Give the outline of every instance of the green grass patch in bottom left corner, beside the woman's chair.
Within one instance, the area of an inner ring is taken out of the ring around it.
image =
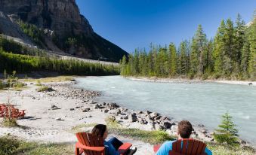
[[[73,144],[40,144],[23,141],[10,135],[0,137],[1,155],[70,155],[73,153]]]

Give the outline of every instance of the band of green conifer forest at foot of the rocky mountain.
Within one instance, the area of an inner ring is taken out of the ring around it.
[[[24,55],[26,54],[26,55]],[[54,71],[59,74],[74,75],[113,75],[119,74],[119,66],[94,62],[83,62],[78,59],[58,59],[49,57],[43,50],[23,47],[14,41],[0,36],[0,71]]]

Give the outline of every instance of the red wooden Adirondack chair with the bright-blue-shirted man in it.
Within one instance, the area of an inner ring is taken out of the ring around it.
[[[161,145],[155,145],[154,151],[157,152],[159,147]],[[172,150],[169,151],[169,155],[206,155],[205,147],[204,142],[193,138],[179,139],[172,143]]]

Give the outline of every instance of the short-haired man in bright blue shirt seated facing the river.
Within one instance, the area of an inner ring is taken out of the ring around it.
[[[192,133],[192,125],[189,121],[187,120],[182,120],[178,124],[178,129],[177,129],[177,135],[179,135],[179,139],[181,138],[190,138],[190,135]],[[169,151],[172,150],[172,143],[174,141],[166,141],[162,146],[159,148],[157,151],[156,155],[168,155]],[[182,144],[182,143],[181,143]],[[184,146],[182,146],[184,147]],[[205,153],[207,155],[212,155],[211,150],[209,150],[207,147],[205,147]]]

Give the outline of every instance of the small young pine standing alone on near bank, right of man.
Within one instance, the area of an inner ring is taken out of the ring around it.
[[[230,147],[237,146],[238,144],[238,130],[236,125],[232,121],[232,117],[229,113],[225,113],[222,116],[221,125],[218,126],[214,133],[214,140],[219,143],[226,143]]]

